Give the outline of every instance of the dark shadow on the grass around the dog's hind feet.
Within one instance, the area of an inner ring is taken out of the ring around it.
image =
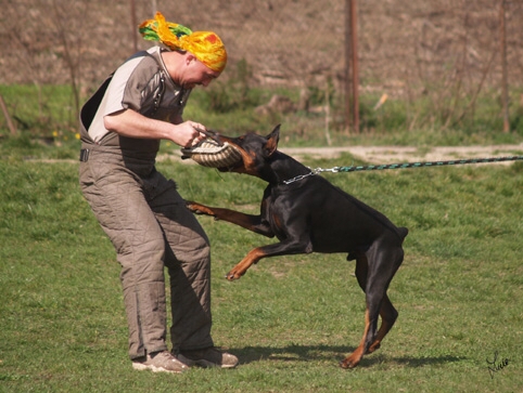
[[[231,353],[240,358],[240,364],[250,364],[260,361],[279,362],[332,362],[344,359],[355,348],[333,345],[286,345],[286,346],[244,346],[241,349],[229,349]],[[395,357],[394,354],[377,352],[368,354],[361,361],[361,366],[371,367],[374,364],[391,363],[411,368],[443,365],[448,363],[462,362],[463,357],[442,355],[423,357]]]

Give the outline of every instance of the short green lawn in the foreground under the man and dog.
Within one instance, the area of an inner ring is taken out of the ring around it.
[[[337,367],[362,335],[354,262],[272,258],[228,283],[252,247],[273,240],[202,217],[214,338],[241,364],[169,376],[131,369],[114,251],[81,197],[76,160],[41,160],[60,155],[0,145],[0,392],[523,390],[521,162],[322,174],[410,230],[390,289],[397,325],[354,370]],[[265,187],[180,160],[158,169],[188,199],[244,211],[257,210]],[[496,352],[509,364],[490,378]]]

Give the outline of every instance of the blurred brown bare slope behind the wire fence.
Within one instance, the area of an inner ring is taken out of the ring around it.
[[[359,91],[416,99],[428,91],[501,89],[523,80],[523,0],[367,0],[357,8]],[[264,87],[319,87],[343,95],[347,0],[0,0],[0,84],[72,83],[87,94],[135,50],[153,16],[214,30]],[[521,89],[520,89],[521,90]],[[518,99],[518,97],[515,97]],[[514,100],[514,97],[512,97]],[[520,97],[523,108],[523,95]]]

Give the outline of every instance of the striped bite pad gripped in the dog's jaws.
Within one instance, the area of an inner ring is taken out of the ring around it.
[[[203,167],[228,170],[242,160],[241,153],[228,142],[222,144],[205,139],[194,146],[182,148],[181,158],[191,158]]]

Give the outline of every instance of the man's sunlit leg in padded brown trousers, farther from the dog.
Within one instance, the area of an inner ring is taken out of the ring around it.
[[[163,232],[136,176],[120,165],[82,162],[80,183],[122,265],[129,356],[167,350]],[[91,166],[92,165],[92,166]]]

